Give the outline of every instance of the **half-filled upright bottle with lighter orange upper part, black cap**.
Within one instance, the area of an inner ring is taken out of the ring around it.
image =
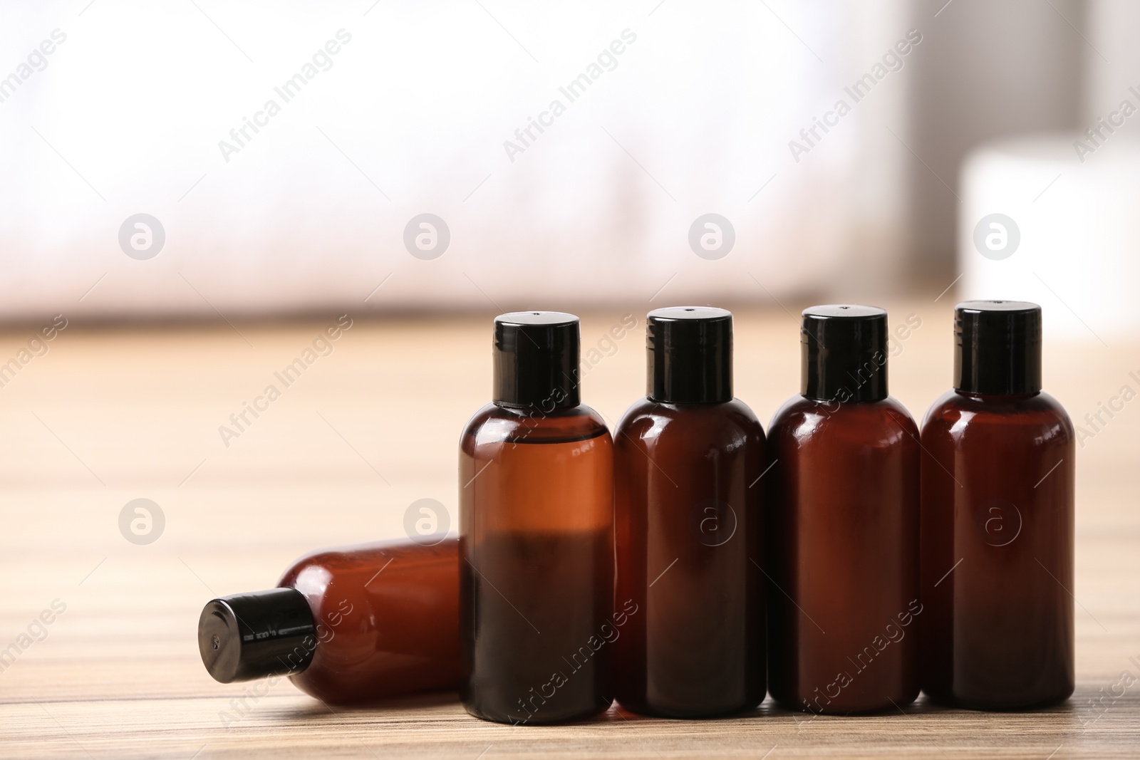
[[[578,318],[502,314],[494,401],[459,441],[459,695],[510,724],[609,708],[613,443],[578,397]]]

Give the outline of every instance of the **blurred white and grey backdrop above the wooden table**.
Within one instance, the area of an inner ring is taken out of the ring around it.
[[[972,297],[988,285],[956,279],[977,263],[955,261],[980,213],[961,174],[969,152],[1041,132],[1065,145],[1119,100],[1140,106],[1130,0],[2,7],[0,316],[16,320],[584,308],[658,293],[771,304],[934,297],[951,283]],[[298,74],[286,101],[278,89]],[[579,75],[589,83],[571,101]],[[564,113],[544,115],[554,100]],[[829,115],[840,100],[850,113]],[[531,119],[548,125],[523,144]],[[1140,116],[1115,142],[1127,131],[1140,134]],[[1066,196],[1069,181],[1042,198],[1059,205],[1047,221],[1080,193]],[[120,245],[140,213],[165,237],[147,260]],[[449,234],[433,260],[405,245],[424,213]],[[734,231],[717,260],[690,245],[707,213]],[[1056,237],[1021,232],[1023,260]],[[1052,272],[1056,293],[1027,295],[1073,332],[1082,311],[1101,319],[1093,278],[1132,253],[1112,250],[1133,239],[1121,235]],[[1104,319],[1091,328],[1112,330]]]

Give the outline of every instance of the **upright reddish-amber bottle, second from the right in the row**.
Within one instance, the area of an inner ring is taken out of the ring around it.
[[[768,427],[768,689],[894,710],[919,693],[919,442],[887,395],[887,312],[804,311],[803,393]]]

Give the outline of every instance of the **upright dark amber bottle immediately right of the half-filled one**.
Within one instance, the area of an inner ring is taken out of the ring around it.
[[[617,700],[701,718],[764,700],[764,430],[732,395],[732,314],[649,313],[648,395],[614,431]]]

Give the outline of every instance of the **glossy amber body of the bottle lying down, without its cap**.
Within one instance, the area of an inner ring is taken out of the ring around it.
[[[303,594],[317,623],[312,662],[290,677],[301,690],[345,704],[457,686],[457,540],[316,551],[278,587]]]

